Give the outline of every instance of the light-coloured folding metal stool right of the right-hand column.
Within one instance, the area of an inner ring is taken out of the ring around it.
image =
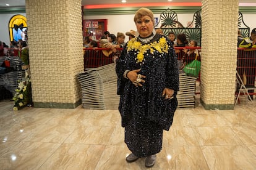
[[[237,81],[237,84],[239,85],[239,91],[238,91],[238,94],[236,96],[235,105],[236,105],[237,101],[239,100],[239,96],[241,95],[241,92],[244,95],[247,95],[247,97],[250,100],[250,102],[252,102],[252,98],[250,97],[250,94],[249,94],[248,91],[255,90],[256,87],[247,87],[247,86],[245,86],[244,82],[242,81],[241,76],[239,75],[239,73],[237,71],[236,71],[236,81]]]

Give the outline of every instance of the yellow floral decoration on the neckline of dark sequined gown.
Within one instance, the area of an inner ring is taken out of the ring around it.
[[[151,54],[154,54],[154,51],[158,51],[160,53],[168,52],[168,44],[164,37],[159,39],[158,41],[151,42],[150,44],[143,44],[137,41],[137,38],[131,39],[127,43],[127,52],[131,50],[138,51],[137,54],[137,63],[143,63],[145,52],[150,50]]]

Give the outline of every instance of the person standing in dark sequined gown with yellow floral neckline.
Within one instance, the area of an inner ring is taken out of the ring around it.
[[[137,10],[134,22],[139,36],[127,42],[116,63],[119,112],[132,152],[126,161],[146,157],[145,166],[151,167],[162,148],[163,130],[173,123],[179,70],[171,42],[155,34],[151,10]]]

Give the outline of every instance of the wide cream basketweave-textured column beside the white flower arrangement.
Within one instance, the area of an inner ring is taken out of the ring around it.
[[[75,108],[83,71],[81,1],[26,1],[35,107]]]

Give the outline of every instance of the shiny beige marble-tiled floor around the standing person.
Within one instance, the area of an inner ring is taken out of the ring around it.
[[[117,110],[0,102],[0,169],[256,169],[256,100],[234,110],[177,110],[153,168],[127,163]]]

